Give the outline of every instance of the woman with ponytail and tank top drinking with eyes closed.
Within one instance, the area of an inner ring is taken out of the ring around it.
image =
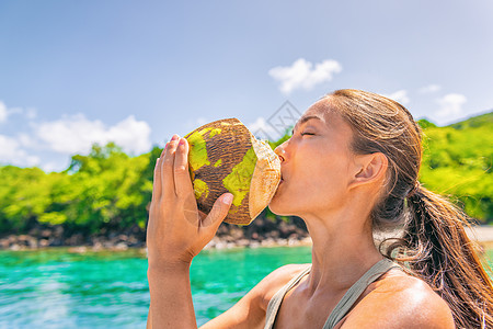
[[[197,212],[187,151],[173,136],[154,171],[152,328],[196,327],[190,264],[231,204],[225,193],[210,214]],[[270,208],[305,220],[312,263],[277,269],[203,328],[493,328],[492,283],[466,216],[417,182],[421,133],[408,110],[339,90],[308,109],[276,154],[283,179]],[[401,239],[375,247],[375,230],[403,224]]]

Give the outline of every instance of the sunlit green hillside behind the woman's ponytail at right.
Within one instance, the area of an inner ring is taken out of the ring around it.
[[[445,127],[420,121],[421,182],[452,198],[481,222],[493,222],[493,112]]]

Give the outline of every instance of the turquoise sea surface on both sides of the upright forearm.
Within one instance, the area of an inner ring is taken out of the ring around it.
[[[488,257],[493,259],[493,250]],[[203,251],[191,270],[198,325],[227,310],[273,270],[310,261],[309,247]],[[0,251],[0,328],[145,328],[146,272],[139,250]]]

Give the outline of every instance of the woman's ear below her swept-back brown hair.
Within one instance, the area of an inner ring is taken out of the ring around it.
[[[381,152],[356,156],[353,186],[368,184],[385,178],[389,160]]]

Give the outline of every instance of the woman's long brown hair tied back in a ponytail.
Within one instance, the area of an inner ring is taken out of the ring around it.
[[[469,217],[417,181],[422,132],[411,113],[359,90],[337,90],[326,100],[352,126],[356,154],[388,158],[386,191],[371,219],[376,229],[404,225],[404,235],[385,256],[428,283],[448,303],[458,328],[493,328],[493,286],[465,231]]]

